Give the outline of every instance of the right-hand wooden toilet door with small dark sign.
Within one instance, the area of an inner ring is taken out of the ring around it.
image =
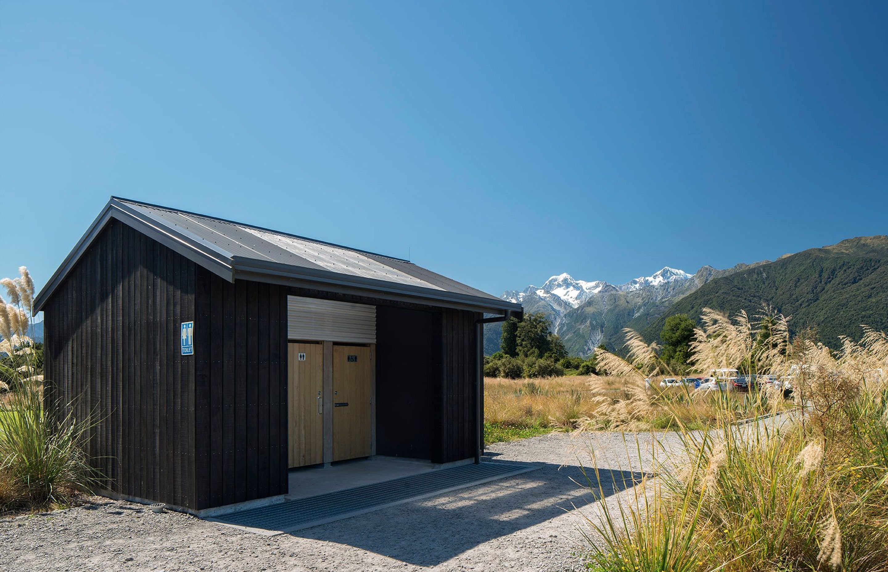
[[[333,346],[333,460],[369,457],[373,361],[366,346]]]

